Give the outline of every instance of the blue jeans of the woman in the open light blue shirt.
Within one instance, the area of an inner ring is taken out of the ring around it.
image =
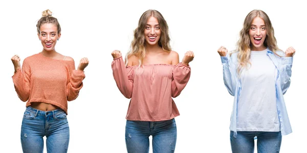
[[[281,132],[238,131],[237,138],[230,131],[230,143],[233,153],[254,152],[254,137],[257,137],[258,153],[279,152],[281,145]]]

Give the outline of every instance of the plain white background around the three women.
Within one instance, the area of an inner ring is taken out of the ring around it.
[[[113,79],[111,52],[126,53],[143,12],[156,9],[166,19],[172,49],[180,61],[187,50],[195,54],[191,78],[174,99],[176,152],[231,152],[229,124],[233,97],[223,83],[216,50],[235,49],[246,15],[265,11],[273,24],[279,48],[296,49],[292,83],[284,95],[293,133],[282,137],[280,152],[302,152],[306,146],[306,9],[298,1],[2,1],[0,4],[0,152],[22,152],[20,127],[26,103],[18,99],[10,58],[22,61],[42,50],[36,33],[41,12],[50,9],[62,35],[57,52],[90,64],[79,97],[69,102],[68,152],[126,152],[125,115],[129,104]],[[22,62],[21,61],[21,62]],[[46,146],[45,146],[46,149]],[[151,145],[150,145],[151,150]]]

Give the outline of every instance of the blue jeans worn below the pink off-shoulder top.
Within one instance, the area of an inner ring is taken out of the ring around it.
[[[153,153],[175,151],[177,127],[175,119],[165,121],[126,122],[126,147],[128,153],[149,152],[149,136],[152,136]]]

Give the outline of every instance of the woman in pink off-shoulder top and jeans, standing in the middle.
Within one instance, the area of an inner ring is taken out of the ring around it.
[[[194,54],[188,51],[179,63],[169,45],[168,25],[162,14],[147,10],[134,31],[125,63],[119,50],[112,56],[113,76],[120,92],[131,98],[126,115],[125,140],[128,152],[174,152],[179,111],[177,97],[190,78]]]

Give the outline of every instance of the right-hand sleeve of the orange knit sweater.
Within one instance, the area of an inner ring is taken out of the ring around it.
[[[67,89],[67,100],[72,101],[75,100],[78,95],[80,89],[83,87],[83,79],[85,78],[85,74],[81,70],[75,70],[75,62],[69,66],[69,80],[66,86]]]

